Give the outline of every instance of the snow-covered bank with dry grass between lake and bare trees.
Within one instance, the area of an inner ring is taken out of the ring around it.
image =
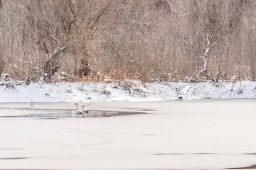
[[[256,82],[237,83],[30,83],[5,87],[0,102],[160,101],[171,99],[256,98]]]

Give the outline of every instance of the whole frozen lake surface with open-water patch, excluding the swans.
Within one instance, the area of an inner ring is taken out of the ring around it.
[[[82,105],[82,103],[79,103]],[[256,165],[256,100],[0,103],[0,169]]]

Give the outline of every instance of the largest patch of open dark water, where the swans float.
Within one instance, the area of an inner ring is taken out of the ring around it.
[[[129,116],[138,114],[147,114],[141,112],[113,112],[90,110],[88,113],[75,114],[75,110],[35,110],[36,114],[21,114],[15,116],[1,116],[0,118],[42,118],[42,119],[57,119],[57,118],[103,118],[113,116]],[[28,110],[31,112],[31,110]]]

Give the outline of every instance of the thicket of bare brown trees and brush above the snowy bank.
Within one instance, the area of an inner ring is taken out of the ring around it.
[[[0,73],[255,81],[255,16],[255,0],[1,0]]]

